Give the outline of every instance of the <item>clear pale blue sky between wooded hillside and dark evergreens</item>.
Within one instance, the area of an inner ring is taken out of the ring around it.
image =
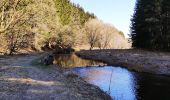
[[[130,19],[133,15],[136,0],[71,0],[80,4],[86,11],[94,13],[100,20],[112,24],[123,31],[125,36],[130,32]]]

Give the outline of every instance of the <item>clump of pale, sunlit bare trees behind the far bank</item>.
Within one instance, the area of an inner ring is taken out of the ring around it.
[[[90,19],[86,22],[85,29],[90,50],[95,46],[99,49],[126,48],[127,43],[123,33],[120,34],[120,31],[112,25],[98,19]]]

